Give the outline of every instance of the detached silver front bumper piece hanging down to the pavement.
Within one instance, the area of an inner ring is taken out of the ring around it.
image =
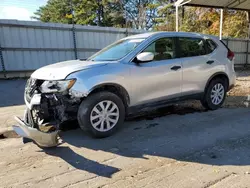
[[[21,137],[29,138],[41,147],[54,147],[58,145],[59,131],[44,133],[30,127],[18,117],[15,117],[15,120],[18,122],[18,126],[14,125],[13,129]]]

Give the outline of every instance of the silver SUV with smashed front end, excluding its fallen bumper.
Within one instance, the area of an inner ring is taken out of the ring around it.
[[[234,53],[216,37],[152,32],[121,39],[85,60],[36,70],[25,88],[23,123],[77,119],[94,137],[114,133],[128,114],[186,99],[210,110],[235,84]],[[20,120],[20,119],[19,119]],[[24,135],[23,135],[24,136]]]

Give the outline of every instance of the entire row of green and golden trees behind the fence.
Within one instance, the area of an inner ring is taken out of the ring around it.
[[[175,0],[48,0],[35,12],[43,22],[74,23],[146,30],[175,31]],[[71,16],[74,10],[73,18]],[[179,11],[180,30],[219,35],[220,10],[185,7]],[[244,11],[224,11],[223,36],[246,38]]]

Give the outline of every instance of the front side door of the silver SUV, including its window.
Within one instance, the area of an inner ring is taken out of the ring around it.
[[[135,63],[131,68],[134,105],[181,96],[182,65],[176,59],[175,38],[160,38],[143,52],[152,52],[154,60]]]

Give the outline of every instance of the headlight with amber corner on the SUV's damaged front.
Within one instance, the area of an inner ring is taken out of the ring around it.
[[[68,91],[76,82],[76,79],[45,81],[40,86],[42,93],[59,93]]]

